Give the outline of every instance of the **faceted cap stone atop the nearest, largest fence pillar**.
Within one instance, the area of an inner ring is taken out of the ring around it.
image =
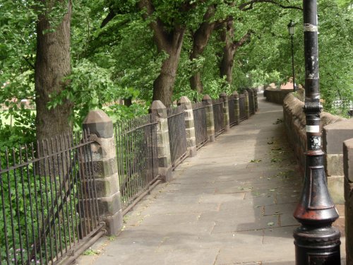
[[[90,134],[97,135],[98,138],[113,137],[112,119],[103,110],[91,110],[83,121],[83,129],[90,131]]]

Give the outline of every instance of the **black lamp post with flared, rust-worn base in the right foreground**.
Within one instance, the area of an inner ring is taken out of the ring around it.
[[[318,25],[316,0],[304,0],[306,172],[301,200],[294,211],[296,264],[340,264],[340,232],[332,226],[338,213],[328,193],[320,130]]]

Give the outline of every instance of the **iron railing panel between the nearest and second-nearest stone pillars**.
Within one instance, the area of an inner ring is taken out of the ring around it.
[[[114,124],[121,203],[127,208],[157,180],[157,119],[155,114]]]

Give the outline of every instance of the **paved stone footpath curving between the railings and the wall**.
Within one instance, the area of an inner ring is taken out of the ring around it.
[[[294,264],[301,175],[282,116],[259,95],[259,112],[185,160],[76,264]]]

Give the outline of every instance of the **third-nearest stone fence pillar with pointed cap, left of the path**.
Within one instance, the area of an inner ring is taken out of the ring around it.
[[[193,122],[193,106],[188,97],[182,96],[178,101],[178,105],[184,107],[185,113],[185,129],[186,129],[186,143],[191,157],[196,155],[196,136],[195,124]]]

